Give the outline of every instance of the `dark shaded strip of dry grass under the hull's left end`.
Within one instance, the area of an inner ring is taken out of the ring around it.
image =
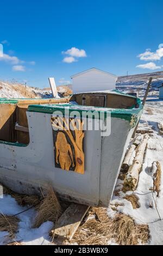
[[[0,184],[1,185],[1,184]],[[40,198],[38,196],[35,195],[31,195],[28,196],[27,194],[18,194],[12,190],[10,190],[10,188],[8,188],[7,186],[3,186],[3,193],[4,194],[10,194],[11,197],[14,197],[16,202],[19,205],[36,205],[40,203]]]

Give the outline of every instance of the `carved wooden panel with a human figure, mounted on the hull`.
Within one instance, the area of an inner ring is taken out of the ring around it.
[[[84,121],[66,117],[52,117],[51,121],[55,167],[84,174]]]

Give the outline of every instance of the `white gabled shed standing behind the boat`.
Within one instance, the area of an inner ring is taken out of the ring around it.
[[[117,76],[91,68],[71,76],[73,93],[115,89]]]

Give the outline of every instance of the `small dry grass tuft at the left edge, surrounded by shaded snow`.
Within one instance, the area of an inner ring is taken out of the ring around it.
[[[0,214],[0,231],[7,231],[9,238],[14,239],[18,229],[18,218],[16,216],[8,216]]]

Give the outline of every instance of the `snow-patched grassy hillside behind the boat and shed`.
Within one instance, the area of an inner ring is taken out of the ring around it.
[[[149,77],[153,77],[152,87],[149,95],[158,95],[159,86],[163,83],[163,71],[137,74],[131,76],[120,76],[116,83],[116,89],[122,92],[137,92],[139,96],[145,94],[147,82]],[[62,85],[57,87],[58,94],[61,97],[72,94],[72,85]],[[17,82],[3,82],[0,81],[0,97],[7,98],[46,98],[52,97],[51,88],[36,88],[24,86],[24,84]]]

